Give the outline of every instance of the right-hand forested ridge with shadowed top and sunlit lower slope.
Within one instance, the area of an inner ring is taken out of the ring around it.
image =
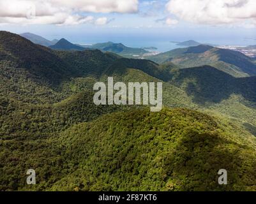
[[[194,108],[235,120],[256,136],[255,77],[235,78],[210,66],[176,69],[172,75],[169,83],[183,90]]]

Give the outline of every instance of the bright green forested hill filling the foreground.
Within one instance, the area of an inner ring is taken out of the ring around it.
[[[7,165],[2,190],[255,190],[255,138],[229,121],[186,109],[112,113],[49,139],[1,147]],[[38,185],[24,187],[19,172],[31,165],[39,171]],[[217,183],[220,168],[229,171],[228,186]]]

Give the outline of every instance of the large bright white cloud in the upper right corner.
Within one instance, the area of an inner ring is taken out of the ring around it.
[[[198,24],[256,24],[255,0],[170,0],[167,10]]]

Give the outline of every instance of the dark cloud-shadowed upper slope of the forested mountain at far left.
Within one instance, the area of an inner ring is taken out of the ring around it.
[[[20,78],[29,78],[39,84],[57,84],[72,75],[72,70],[49,48],[4,31],[0,32],[0,60],[1,82],[15,84]]]

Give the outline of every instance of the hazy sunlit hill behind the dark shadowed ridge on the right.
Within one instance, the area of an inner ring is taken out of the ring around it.
[[[256,64],[241,52],[215,48],[209,45],[178,48],[169,52],[147,57],[152,61],[174,62],[182,68],[210,65],[234,77],[248,77],[256,75]]]

